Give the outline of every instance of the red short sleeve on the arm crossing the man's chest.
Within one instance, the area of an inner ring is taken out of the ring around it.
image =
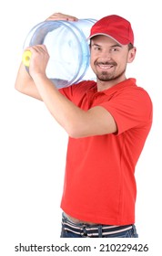
[[[117,134],[152,123],[152,102],[147,91],[142,88],[120,91],[101,106],[114,117]]]

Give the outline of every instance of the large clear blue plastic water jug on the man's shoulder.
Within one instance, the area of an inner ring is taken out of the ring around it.
[[[28,46],[45,44],[50,59],[46,76],[56,87],[63,88],[80,80],[95,80],[89,66],[89,45],[87,37],[95,19],[78,21],[44,21],[33,27],[25,38]]]

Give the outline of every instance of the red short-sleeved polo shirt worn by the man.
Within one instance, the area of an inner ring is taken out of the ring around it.
[[[69,138],[61,208],[70,216],[108,225],[135,223],[135,166],[152,123],[152,103],[135,79],[97,91],[95,81],[60,90],[83,110],[102,106],[116,134]]]

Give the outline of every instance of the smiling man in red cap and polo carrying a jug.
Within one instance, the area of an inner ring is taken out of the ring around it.
[[[77,20],[63,14],[48,19]],[[46,46],[39,45],[28,48],[30,76],[21,64],[15,89],[44,101],[69,135],[61,237],[137,237],[134,174],[151,128],[152,103],[126,77],[137,50],[130,23],[106,16],[89,39],[96,81],[56,90],[46,77]]]

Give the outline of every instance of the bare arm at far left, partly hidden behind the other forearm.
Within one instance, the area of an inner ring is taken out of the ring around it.
[[[35,82],[26,71],[25,65],[23,63],[21,63],[17,73],[15,80],[15,90],[42,101],[42,98],[35,87]]]

